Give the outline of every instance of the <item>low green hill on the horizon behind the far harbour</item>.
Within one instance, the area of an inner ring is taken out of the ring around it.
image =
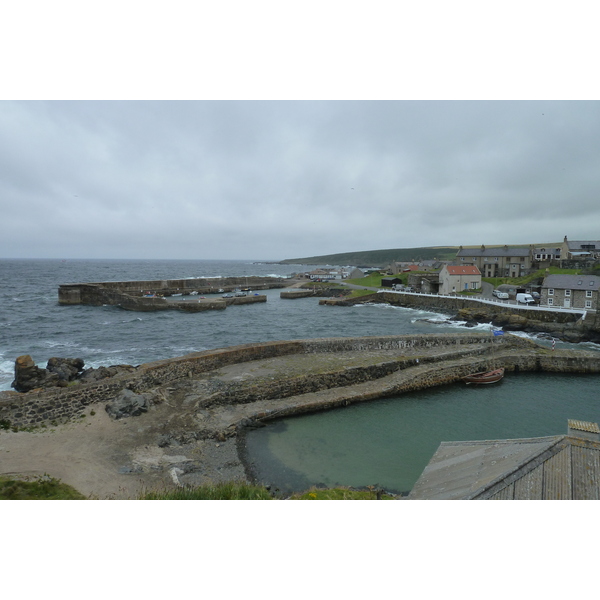
[[[344,252],[307,258],[288,258],[282,265],[352,265],[356,267],[386,267],[392,262],[418,262],[421,260],[451,260],[456,256],[458,246],[447,248],[397,248],[393,250],[365,250]]]

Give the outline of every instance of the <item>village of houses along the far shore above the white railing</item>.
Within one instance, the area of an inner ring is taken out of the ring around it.
[[[482,295],[499,300],[596,311],[600,241],[568,240],[545,246],[460,246],[452,260],[392,262],[379,269],[320,267],[304,274],[315,282],[358,279],[383,272],[381,286],[405,292]],[[528,281],[520,283],[528,276]],[[513,280],[485,285],[486,279]]]

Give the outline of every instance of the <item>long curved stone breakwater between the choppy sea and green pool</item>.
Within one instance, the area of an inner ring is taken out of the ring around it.
[[[262,368],[260,361],[264,367],[275,359],[280,361],[276,370],[271,368],[268,376],[254,375]],[[250,362],[252,370],[243,366]],[[237,365],[243,368],[241,380],[227,380],[219,374]],[[197,406],[246,405],[250,408],[244,419],[263,419],[442,385],[488,366],[504,366],[509,371],[600,372],[596,354],[551,352],[509,335],[500,339],[486,334],[447,334],[268,342],[146,363],[127,373],[66,388],[1,392],[0,421],[27,427],[67,420],[90,405],[113,400],[124,390],[152,394],[160,387],[164,393],[165,386],[174,382],[195,386]],[[361,388],[365,384],[372,385]],[[315,397],[315,393],[324,395]],[[287,403],[292,397],[301,399]],[[265,410],[265,402],[272,408]],[[242,420],[234,419],[226,427]],[[217,435],[216,430],[213,434]]]

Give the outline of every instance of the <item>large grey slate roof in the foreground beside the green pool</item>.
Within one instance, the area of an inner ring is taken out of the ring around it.
[[[597,426],[596,426],[597,427]],[[598,500],[600,441],[570,435],[442,442],[409,500]]]

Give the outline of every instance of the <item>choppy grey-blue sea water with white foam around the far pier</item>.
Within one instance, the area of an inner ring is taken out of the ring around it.
[[[318,298],[281,299],[280,289],[261,291],[265,303],[198,313],[58,304],[58,287],[65,283],[288,277],[313,268],[258,261],[0,260],[0,390],[10,389],[15,359],[22,354],[31,355],[40,367],[56,356],[81,358],[86,367],[97,368],[237,344],[465,331],[459,323],[420,320],[442,317],[431,311],[377,304],[320,306]]]

